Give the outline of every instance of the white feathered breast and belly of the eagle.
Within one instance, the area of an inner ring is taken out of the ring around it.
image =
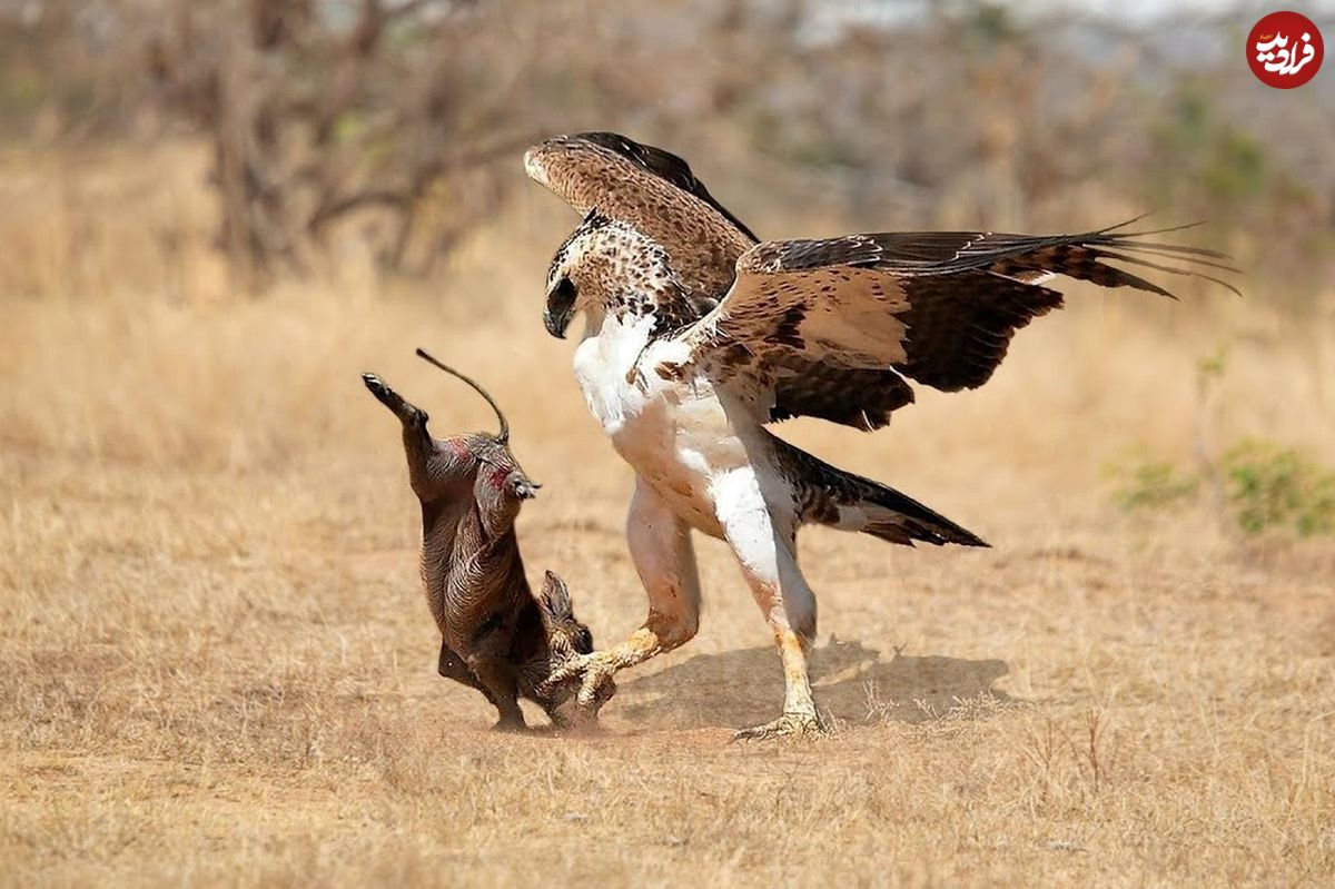
[[[682,362],[688,346],[646,347],[653,326],[651,315],[609,312],[575,350],[575,376],[617,453],[693,527],[721,537],[718,501],[740,486],[758,493],[762,478],[777,481],[753,465],[768,454],[764,432],[734,423],[708,376],[659,376],[658,364]]]

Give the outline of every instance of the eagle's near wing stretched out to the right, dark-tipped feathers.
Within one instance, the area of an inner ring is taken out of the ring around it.
[[[1061,294],[1040,284],[1055,275],[1171,296],[1111,259],[1235,290],[1199,270],[1228,270],[1219,254],[1143,240],[1148,234],[765,242],[737,260],[732,290],[682,336],[693,362],[712,366],[766,419],[880,428],[913,400],[905,376],[945,391],[985,383],[1015,332],[1061,307]]]

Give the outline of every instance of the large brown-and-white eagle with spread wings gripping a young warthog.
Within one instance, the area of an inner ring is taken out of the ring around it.
[[[1015,332],[1061,306],[1043,286],[1055,275],[1171,295],[1108,260],[1202,278],[1199,266],[1223,267],[1220,254],[1123,226],[761,242],[681,158],[606,132],[547,140],[527,151],[525,168],[586,214],[551,260],[543,320],[554,336],[577,314],[587,323],[575,376],[635,470],[626,529],[649,594],[649,617],[630,638],[551,681],[579,678],[579,699],[593,702],[617,670],[696,634],[694,529],[732,547],[784,663],[782,715],[738,737],[825,729],[808,681],[816,598],[797,566],[798,527],[987,546],[766,423],[818,416],[874,430],[913,400],[908,380],[981,386]]]

